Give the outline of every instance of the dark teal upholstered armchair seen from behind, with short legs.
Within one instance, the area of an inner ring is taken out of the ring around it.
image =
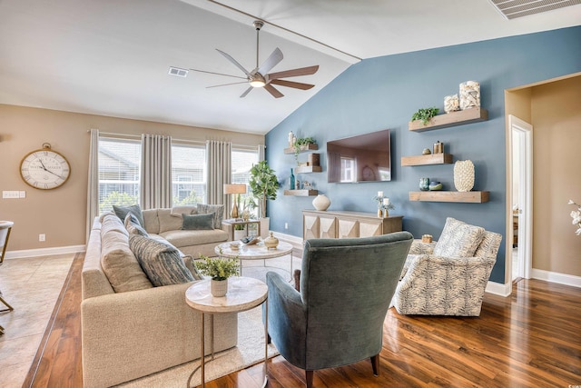
[[[300,292],[266,274],[271,341],[289,363],[313,371],[370,358],[379,374],[383,322],[413,236],[311,239],[304,245]]]

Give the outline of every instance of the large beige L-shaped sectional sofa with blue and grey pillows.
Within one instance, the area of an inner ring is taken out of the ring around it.
[[[188,254],[213,253],[213,245],[218,243],[211,243],[206,234],[196,239],[182,234],[209,231],[165,230],[169,224],[177,225],[178,217],[172,216],[170,209],[144,211],[143,217],[149,231],[167,238]],[[81,318],[85,387],[112,386],[200,357],[202,315],[185,303],[184,296],[192,283],[153,287],[136,260],[137,266],[132,264],[133,274],[120,281],[111,273],[117,261],[102,262],[104,256],[111,259],[131,254],[127,231],[121,220],[115,218],[109,214],[103,218],[103,224],[95,220],[84,259]],[[119,292],[134,288],[137,289]],[[208,327],[209,324],[206,317]],[[236,313],[215,316],[214,338],[217,352],[236,345]],[[210,336],[206,335],[206,350],[211,348],[210,344]]]

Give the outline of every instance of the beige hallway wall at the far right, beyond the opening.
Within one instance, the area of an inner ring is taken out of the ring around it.
[[[581,76],[532,88],[533,268],[581,276]]]

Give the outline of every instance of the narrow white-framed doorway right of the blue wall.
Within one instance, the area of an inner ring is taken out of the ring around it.
[[[533,126],[512,114],[508,115],[511,179],[509,201],[512,212],[507,224],[512,224],[510,260],[507,274],[512,282],[529,279],[532,249],[533,196]]]

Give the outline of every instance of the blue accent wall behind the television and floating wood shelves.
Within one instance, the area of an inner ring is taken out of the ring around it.
[[[396,206],[390,214],[403,215],[404,230],[417,238],[432,234],[438,239],[448,216],[503,234],[490,278],[503,284],[507,242],[505,90],[577,72],[581,72],[581,26],[381,56],[350,66],[266,135],[266,159],[282,184],[277,199],[268,204],[271,230],[302,236],[301,210],[313,208],[313,197],[282,194],[295,165],[292,154],[282,153],[292,131],[299,137],[312,136],[319,144],[323,172],[299,174],[298,179],[312,182],[326,194],[331,200],[329,210],[376,212],[372,197],[383,191]],[[458,93],[459,84],[468,80],[480,83],[487,121],[423,133],[408,130],[414,112],[437,106],[443,113],[444,96]],[[386,128],[391,130],[390,182],[327,183],[327,141]],[[454,161],[470,159],[475,164],[473,190],[489,191],[489,202],[409,202],[409,192],[419,190],[420,177],[440,181],[444,190],[455,190],[453,164],[400,166],[401,156],[421,154],[438,140],[454,155]],[[301,154],[300,160],[306,161],[307,155]]]

